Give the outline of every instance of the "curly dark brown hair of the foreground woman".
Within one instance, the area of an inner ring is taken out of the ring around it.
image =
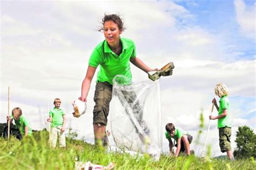
[[[104,14],[104,17],[102,18],[102,21],[100,22],[100,24],[102,24],[102,26],[100,26],[100,28],[98,29],[98,31],[103,31],[104,30],[104,23],[106,21],[113,21],[114,23],[117,24],[119,30],[124,31],[124,22],[122,21],[122,18],[120,18],[119,14],[111,14],[111,15],[107,15],[106,13]]]

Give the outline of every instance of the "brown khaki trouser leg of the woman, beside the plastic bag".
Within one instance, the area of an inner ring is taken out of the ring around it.
[[[107,82],[98,82],[96,84],[93,100],[95,106],[93,109],[93,124],[107,125],[107,115],[109,115],[109,104],[112,99],[112,85]]]

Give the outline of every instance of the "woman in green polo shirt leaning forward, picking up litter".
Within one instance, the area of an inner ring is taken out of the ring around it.
[[[112,98],[113,78],[121,74],[131,79],[130,62],[146,73],[158,70],[151,69],[137,57],[136,46],[132,40],[120,37],[124,29],[124,23],[118,15],[105,14],[102,19],[102,27],[99,29],[99,31],[103,31],[105,40],[93,50],[82,83],[82,94],[79,99],[86,102],[92,78],[99,65],[100,70],[93,98],[96,103],[93,109],[93,130],[96,144],[98,141],[104,140],[109,104]],[[100,145],[105,144],[101,143]]]

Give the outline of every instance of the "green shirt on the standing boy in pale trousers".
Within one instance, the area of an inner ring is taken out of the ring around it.
[[[56,108],[56,107],[52,108],[49,112],[49,115],[52,118],[51,127],[62,126],[64,114],[65,113],[61,108]]]

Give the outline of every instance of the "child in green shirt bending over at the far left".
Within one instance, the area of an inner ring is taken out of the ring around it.
[[[6,117],[7,121],[10,120],[10,124],[14,119],[15,125],[18,127],[19,133],[16,134],[16,138],[21,140],[23,137],[31,136],[32,129],[29,126],[29,121],[26,120],[24,115],[22,115],[22,110],[19,107],[15,107],[12,112],[11,116]]]

